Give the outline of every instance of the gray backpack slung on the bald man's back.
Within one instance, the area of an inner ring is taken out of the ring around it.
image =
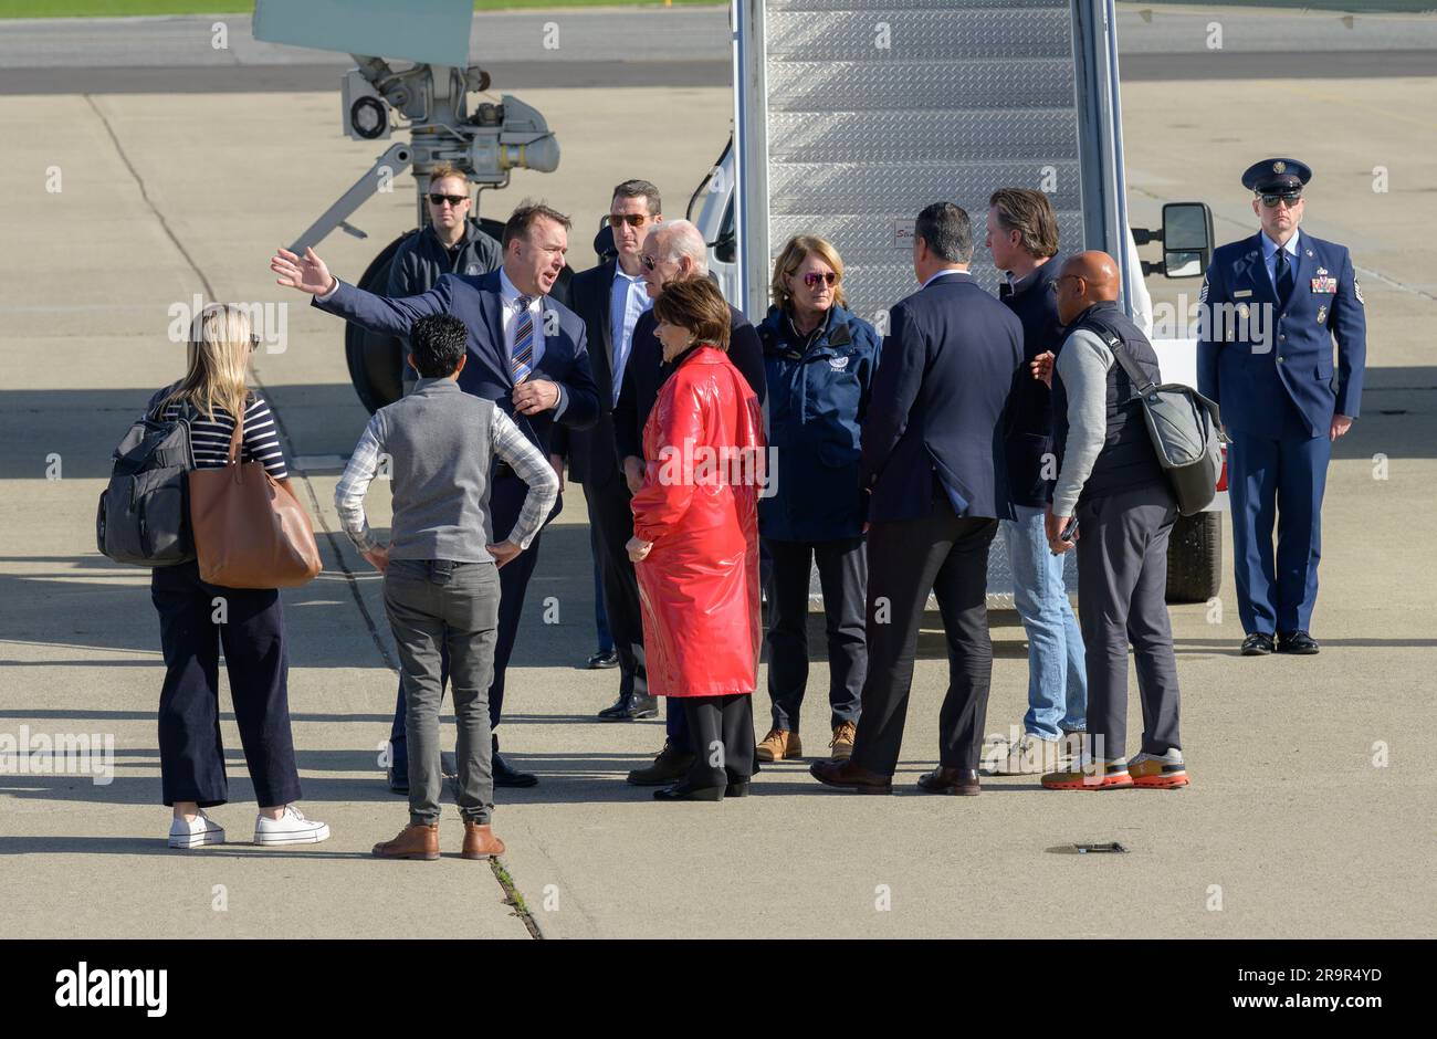
[[[1108,336],[1108,349],[1132,382],[1129,400],[1142,405],[1152,450],[1177,496],[1178,512],[1184,516],[1203,512],[1217,497],[1217,477],[1223,471],[1217,404],[1181,382],[1152,382],[1117,336]]]

